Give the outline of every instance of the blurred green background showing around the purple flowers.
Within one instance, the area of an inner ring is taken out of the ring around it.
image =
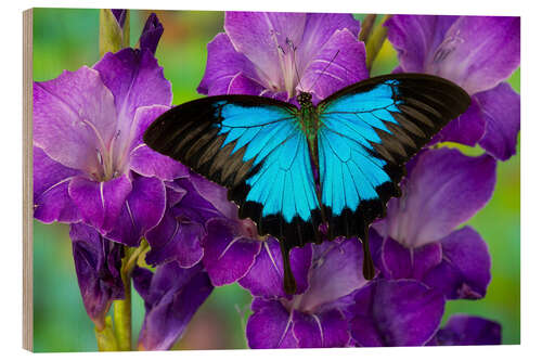
[[[206,44],[222,31],[223,13],[156,13],[165,28],[156,57],[172,83],[173,104],[199,98],[195,89],[205,70]],[[149,14],[131,11],[132,46]],[[361,20],[363,15],[356,17]],[[35,9],[34,80],[49,80],[64,69],[92,66],[99,60],[98,28],[98,10]],[[386,41],[372,75],[389,73],[396,66],[397,55]],[[509,81],[519,91],[519,70]],[[480,149],[461,149],[470,155],[482,153]],[[493,198],[468,224],[489,244],[492,282],[485,299],[447,302],[442,322],[459,312],[481,315],[502,324],[504,344],[519,344],[519,145],[518,155],[499,164]],[[134,295],[137,338],[144,309],[139,295]],[[244,328],[250,299],[248,292],[236,284],[216,288],[175,348],[246,348]],[[79,295],[65,224],[34,222],[34,347],[38,352],[96,350],[93,324]]]

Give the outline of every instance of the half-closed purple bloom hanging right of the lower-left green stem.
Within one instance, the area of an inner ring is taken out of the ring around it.
[[[133,285],[145,301],[145,319],[138,341],[140,350],[167,350],[186,330],[199,306],[212,292],[201,265],[183,269],[177,262],[133,270]]]

